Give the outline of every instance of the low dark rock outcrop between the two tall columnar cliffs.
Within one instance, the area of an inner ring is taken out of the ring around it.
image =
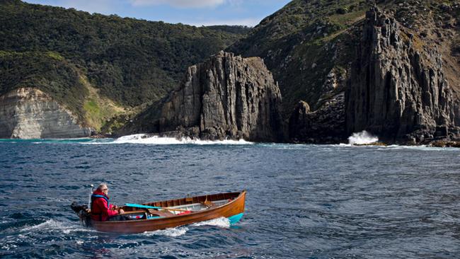
[[[345,97],[331,98],[321,108],[310,111],[308,103],[300,101],[289,118],[289,140],[303,143],[339,143],[346,139]]]

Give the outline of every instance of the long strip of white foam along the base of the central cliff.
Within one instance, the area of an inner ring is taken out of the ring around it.
[[[174,137],[159,137],[148,134],[134,134],[119,137],[113,141],[100,141],[96,139],[94,142],[82,142],[81,144],[154,144],[154,145],[174,145],[174,144],[197,144],[197,145],[248,145],[253,144],[253,142],[247,142],[244,139],[234,140],[234,139],[225,139],[225,140],[201,140],[201,139],[191,139],[190,137],[183,137],[182,139],[176,139]]]

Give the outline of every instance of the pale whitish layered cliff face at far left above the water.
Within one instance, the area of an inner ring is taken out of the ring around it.
[[[0,97],[0,138],[88,137],[91,129],[36,88],[18,88]]]

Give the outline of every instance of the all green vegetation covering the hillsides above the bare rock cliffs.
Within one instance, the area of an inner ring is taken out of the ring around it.
[[[113,132],[137,114],[138,129],[149,129],[157,126],[149,118],[186,68],[227,47],[263,57],[280,83],[284,115],[299,100],[316,110],[344,91],[373,2],[294,0],[255,28],[197,28],[0,0],[0,95],[38,87],[102,132]],[[404,26],[401,38],[416,49],[425,46],[425,37],[443,39],[430,36],[424,23],[456,30],[450,52],[459,57],[458,0],[376,2],[395,14]],[[327,85],[331,74],[335,88]]]

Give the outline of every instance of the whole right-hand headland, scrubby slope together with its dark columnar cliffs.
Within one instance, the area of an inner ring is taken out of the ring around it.
[[[384,11],[370,17],[374,4]],[[452,138],[459,17],[460,1],[294,0],[229,50],[265,59],[292,142],[338,142],[363,129],[389,142]]]

